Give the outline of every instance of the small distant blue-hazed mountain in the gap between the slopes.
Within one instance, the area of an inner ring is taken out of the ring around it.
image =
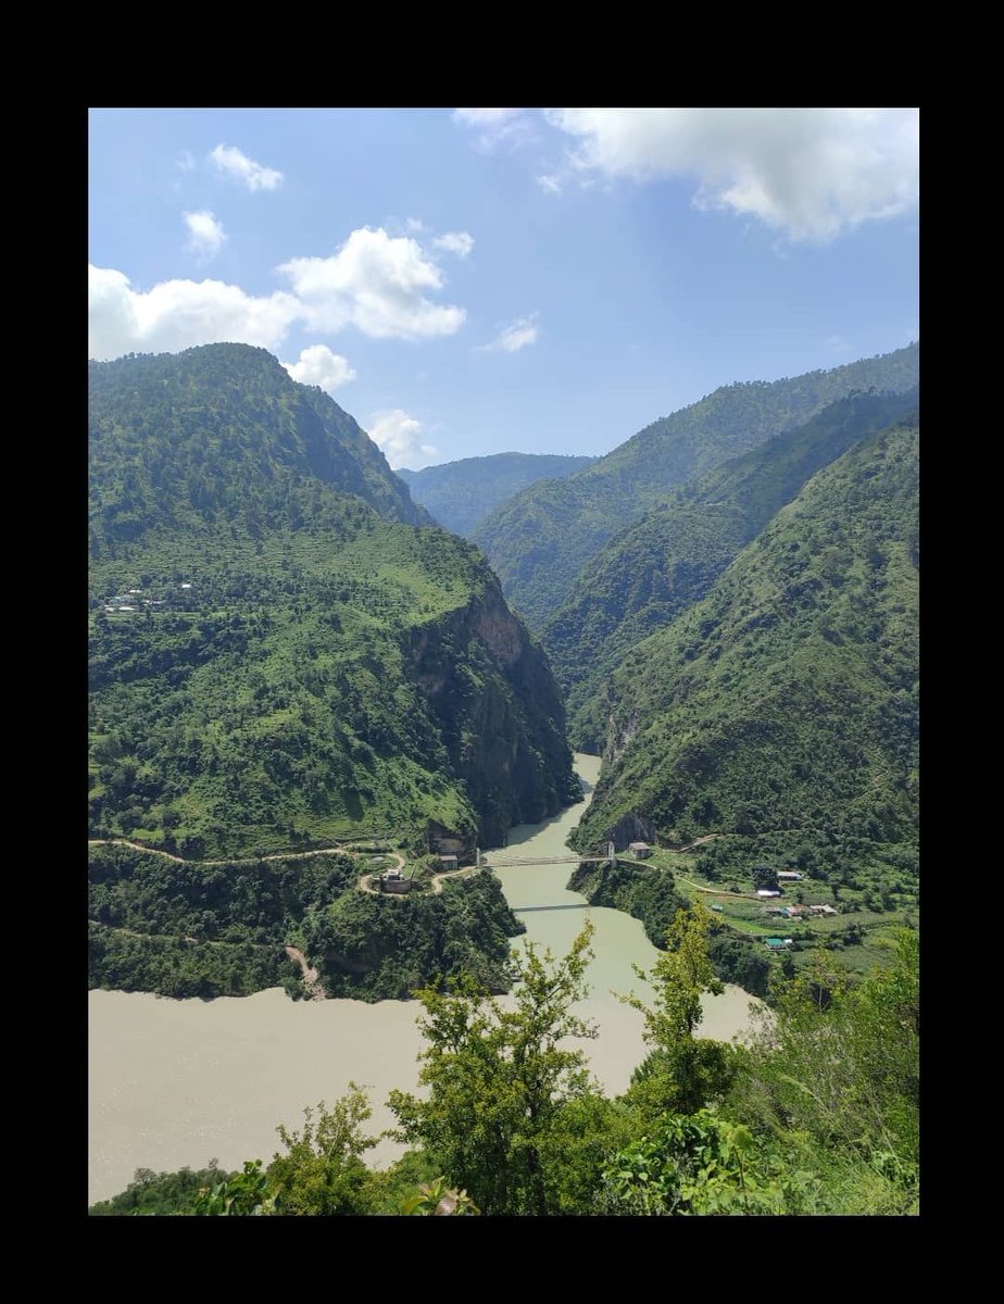
[[[469,535],[489,511],[537,480],[565,480],[596,458],[495,452],[422,471],[398,471],[411,496],[455,535]]]

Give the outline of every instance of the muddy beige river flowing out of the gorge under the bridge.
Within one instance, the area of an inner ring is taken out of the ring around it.
[[[576,755],[587,801],[597,756]],[[565,838],[584,806],[510,833],[498,858],[567,854]],[[492,859],[489,854],[489,861]],[[572,866],[512,866],[498,878],[527,939],[565,955],[587,918],[596,926],[591,991],[578,1012],[600,1035],[584,1046],[608,1091],[622,1091],[644,1058],[642,1016],[613,992],[645,994],[632,965],[649,969],[657,952],[642,925],[619,910],[587,906],[565,884]],[[522,939],[520,939],[522,940]],[[519,944],[519,943],[518,943]],[[747,1024],[739,987],[704,998],[700,1034],[728,1041]],[[156,1172],[266,1163],[279,1146],[276,1124],[299,1128],[305,1104],[332,1102],[349,1081],[369,1089],[370,1128],[394,1121],[383,1103],[392,1086],[415,1089],[421,1037],[415,1001],[292,1001],[282,988],[218,1000],[170,1000],[146,992],[89,994],[89,1200],[124,1191],[136,1168]],[[382,1141],[378,1163],[400,1150]]]

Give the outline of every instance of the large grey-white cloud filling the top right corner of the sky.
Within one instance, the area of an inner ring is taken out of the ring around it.
[[[752,214],[791,240],[824,244],[908,211],[919,196],[911,108],[566,108],[546,117],[578,142],[570,171],[694,175],[698,207]]]

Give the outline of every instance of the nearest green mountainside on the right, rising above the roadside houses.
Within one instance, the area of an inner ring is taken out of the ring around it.
[[[729,835],[831,882],[915,874],[918,426],[815,475],[707,597],[631,649],[579,850]],[[784,863],[784,861],[782,861]]]

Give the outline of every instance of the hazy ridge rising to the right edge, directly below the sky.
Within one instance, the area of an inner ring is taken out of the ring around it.
[[[794,379],[729,385],[662,417],[562,481],[539,481],[472,532],[506,599],[533,630],[568,599],[602,545],[666,493],[803,425],[854,390],[902,393],[919,383],[919,344]]]

